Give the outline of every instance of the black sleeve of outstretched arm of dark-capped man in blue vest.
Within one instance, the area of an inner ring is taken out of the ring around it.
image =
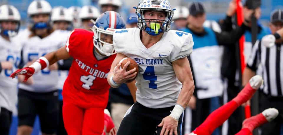
[[[241,36],[248,29],[248,26],[242,24],[240,27],[234,29],[231,32],[223,31],[221,33],[215,32],[217,41],[219,45],[235,45]]]

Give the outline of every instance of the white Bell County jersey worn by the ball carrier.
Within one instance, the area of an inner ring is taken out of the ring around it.
[[[174,106],[182,84],[172,62],[192,53],[192,35],[170,30],[160,41],[146,48],[140,40],[140,31],[139,28],[119,29],[113,35],[115,51],[134,59],[139,65],[136,101],[149,108]]]

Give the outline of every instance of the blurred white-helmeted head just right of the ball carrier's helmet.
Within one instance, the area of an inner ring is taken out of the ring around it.
[[[177,6],[174,11],[172,20],[174,21],[174,29],[180,30],[185,28],[188,24],[187,17],[189,16],[189,9],[185,6]]]

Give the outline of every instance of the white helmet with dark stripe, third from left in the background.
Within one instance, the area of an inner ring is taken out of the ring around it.
[[[68,21],[71,23],[73,16],[68,12],[67,8],[59,6],[52,9],[51,21]]]

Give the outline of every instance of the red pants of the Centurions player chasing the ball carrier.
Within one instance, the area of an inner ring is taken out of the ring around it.
[[[104,108],[80,108],[63,103],[63,121],[68,135],[101,135],[104,126]]]

